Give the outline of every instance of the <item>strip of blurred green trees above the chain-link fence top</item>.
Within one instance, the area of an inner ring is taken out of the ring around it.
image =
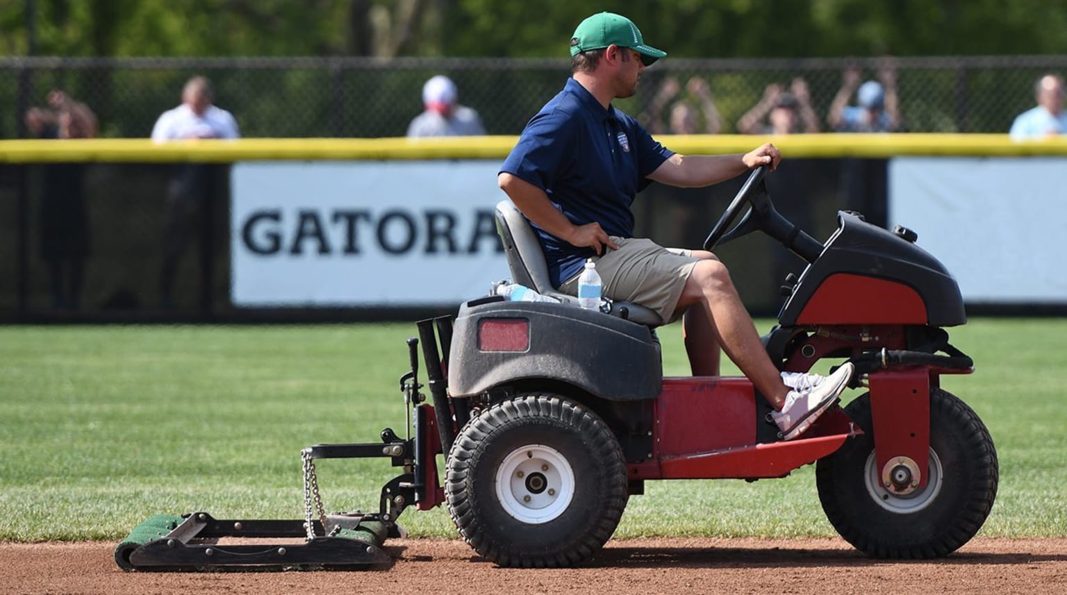
[[[0,0],[0,52],[550,58],[599,10],[631,17],[678,58],[1067,48],[1067,0]]]

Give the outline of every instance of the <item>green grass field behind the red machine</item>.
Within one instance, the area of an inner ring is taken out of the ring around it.
[[[193,510],[300,518],[302,448],[378,440],[386,425],[403,435],[397,379],[414,334],[414,324],[0,327],[0,541],[118,540],[150,514]],[[680,334],[660,329],[668,374],[687,373]],[[1067,535],[1067,319],[977,319],[952,337],[976,372],[943,386],[978,413],[1000,456],[981,534]],[[395,475],[384,460],[318,468],[328,510],[376,509]],[[401,525],[456,535],[441,508],[412,509]],[[833,534],[808,466],[754,483],[649,482],[616,536]]]

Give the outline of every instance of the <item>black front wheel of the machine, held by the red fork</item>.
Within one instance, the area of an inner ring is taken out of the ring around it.
[[[818,499],[838,533],[874,558],[949,554],[985,522],[997,497],[999,470],[982,420],[952,393],[930,390],[927,484],[906,496],[883,488],[874,451],[871,396],[845,407],[864,434],[821,459]]]

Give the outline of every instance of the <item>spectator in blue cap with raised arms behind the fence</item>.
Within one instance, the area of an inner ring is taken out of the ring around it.
[[[841,89],[830,103],[827,123],[838,132],[896,132],[899,129],[897,112],[896,70],[886,63],[878,70],[878,81],[860,83],[858,68],[848,68],[842,76]],[[853,93],[856,106],[848,106]]]

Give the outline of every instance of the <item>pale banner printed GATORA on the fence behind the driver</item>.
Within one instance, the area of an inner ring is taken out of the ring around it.
[[[232,173],[244,307],[441,306],[510,277],[497,161],[251,162]]]

